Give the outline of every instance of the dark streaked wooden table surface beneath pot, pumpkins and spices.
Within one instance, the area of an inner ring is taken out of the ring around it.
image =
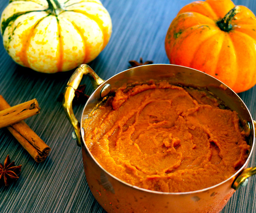
[[[110,13],[113,33],[107,47],[89,65],[103,79],[126,70],[129,60],[153,60],[168,64],[164,49],[167,29],[178,11],[191,0],[103,0]],[[255,0],[235,0],[256,14]],[[1,0],[0,11],[7,0]],[[41,113],[26,119],[27,124],[52,148],[48,158],[36,163],[13,136],[0,130],[0,162],[7,154],[22,164],[20,178],[9,187],[0,186],[0,212],[104,212],[92,196],[84,174],[81,148],[72,140],[72,128],[57,101],[73,71],[44,74],[12,61],[0,38],[0,95],[16,105],[33,98]],[[86,94],[92,93],[87,78]],[[240,93],[253,119],[256,119],[256,86]],[[74,108],[77,118],[83,105]],[[255,149],[249,166],[256,165]],[[256,212],[254,177],[232,196],[222,213]]]

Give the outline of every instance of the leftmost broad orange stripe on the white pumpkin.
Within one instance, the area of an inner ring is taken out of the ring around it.
[[[27,36],[24,36],[24,38],[26,39],[26,41],[24,43],[22,43],[22,47],[20,49],[20,60],[23,62],[23,64],[26,67],[30,68],[30,65],[28,63],[28,55],[27,55],[27,50],[28,50],[28,46],[30,44],[31,38],[32,36],[35,34],[35,29],[36,27],[39,25],[39,23],[46,17],[48,17],[50,14],[48,14],[47,16],[44,16],[43,18],[39,19],[30,29],[28,29],[30,32]],[[24,32],[24,31],[23,31]],[[25,31],[26,32],[26,31]]]

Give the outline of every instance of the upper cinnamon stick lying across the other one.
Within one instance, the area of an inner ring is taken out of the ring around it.
[[[4,98],[2,97],[0,100],[1,105],[4,104],[2,103],[3,100]],[[10,105],[8,104],[8,106]],[[38,102],[36,101],[36,99],[18,104],[13,107],[11,106],[8,108],[5,107],[3,110],[0,111],[0,128],[15,124],[21,120],[24,120],[33,115],[36,115],[39,112],[40,112],[40,108],[38,106]]]

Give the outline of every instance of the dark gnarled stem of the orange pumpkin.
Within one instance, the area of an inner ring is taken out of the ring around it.
[[[232,29],[231,21],[233,20],[234,16],[241,11],[239,6],[235,6],[232,8],[228,13],[224,16],[223,19],[217,22],[218,27],[221,30],[228,32]]]

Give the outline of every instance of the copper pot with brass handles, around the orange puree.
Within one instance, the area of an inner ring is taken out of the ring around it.
[[[84,74],[91,79],[95,91],[84,106],[80,125],[72,110],[72,100],[75,89]],[[246,121],[244,122],[244,129],[250,131],[247,142],[250,144],[251,150],[245,164],[235,174],[215,186],[201,190],[165,193],[125,183],[106,171],[95,160],[84,142],[84,120],[102,101],[102,98],[108,95],[110,90],[115,91],[124,83],[144,82],[151,79],[167,80],[174,85],[205,87],[209,92],[218,96],[227,107],[235,110],[241,120]],[[256,167],[246,169],[254,147],[255,121],[252,120],[249,110],[234,91],[203,72],[178,65],[144,65],[125,70],[104,81],[91,67],[80,65],[68,81],[63,98],[63,107],[75,129],[75,132],[72,133],[73,138],[77,140],[78,146],[82,144],[87,183],[93,196],[107,212],[220,212],[236,189],[243,185],[248,177],[256,174]]]

